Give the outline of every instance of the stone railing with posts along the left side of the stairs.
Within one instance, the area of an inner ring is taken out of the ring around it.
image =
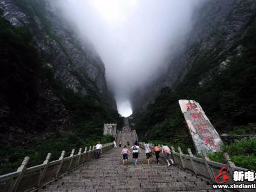
[[[113,143],[102,144],[102,153],[113,148]],[[47,158],[41,165],[27,168],[27,164],[30,158],[25,157],[21,164],[21,167],[13,173],[8,173],[0,176],[0,191],[1,192],[20,192],[35,190],[49,182],[54,181],[60,176],[64,176],[69,171],[73,170],[79,165],[85,164],[85,162],[91,161],[94,157],[94,147],[91,150],[85,147],[84,152],[82,148],[79,149],[77,155],[74,155],[74,149],[71,155],[64,158],[65,151],[62,151],[61,157],[56,161],[51,161],[51,153],[48,153]]]

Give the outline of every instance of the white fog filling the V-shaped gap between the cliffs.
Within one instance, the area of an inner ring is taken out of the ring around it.
[[[119,113],[132,114],[130,95],[165,70],[171,45],[191,30],[200,0],[59,0],[106,68]]]

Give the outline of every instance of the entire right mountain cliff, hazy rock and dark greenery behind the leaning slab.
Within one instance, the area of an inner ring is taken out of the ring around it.
[[[168,70],[132,98],[137,133],[168,141],[189,135],[178,101],[200,103],[218,132],[255,123],[256,2],[205,1]],[[173,54],[175,53],[175,54]]]

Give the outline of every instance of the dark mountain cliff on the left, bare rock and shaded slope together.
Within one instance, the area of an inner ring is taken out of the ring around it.
[[[1,0],[0,10],[13,25],[1,20],[0,144],[120,118],[102,60],[54,1]]]

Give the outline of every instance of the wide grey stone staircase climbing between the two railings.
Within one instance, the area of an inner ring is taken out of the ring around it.
[[[134,135],[125,130],[118,133],[117,144],[121,138],[122,147],[113,148],[100,155],[99,159],[88,162],[55,182],[39,189],[40,192],[151,192],[151,191],[212,191],[212,185],[194,174],[174,165],[168,167],[166,162],[156,164],[155,157],[151,164],[146,162],[145,151],[139,156],[137,165],[133,165],[132,155],[123,165],[120,152],[127,141],[132,146]]]

